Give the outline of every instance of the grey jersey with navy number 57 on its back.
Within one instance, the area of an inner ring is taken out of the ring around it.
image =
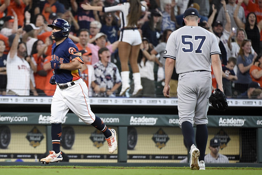
[[[176,72],[210,71],[213,54],[221,55],[217,38],[200,26],[183,26],[169,36],[163,58],[176,60]]]

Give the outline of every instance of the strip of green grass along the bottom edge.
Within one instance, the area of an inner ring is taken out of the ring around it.
[[[0,166],[1,175],[171,175],[171,174],[201,174],[201,175],[240,175],[262,174],[262,168],[206,168],[193,171],[189,167],[81,167],[81,166]]]

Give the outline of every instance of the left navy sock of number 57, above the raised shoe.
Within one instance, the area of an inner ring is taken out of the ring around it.
[[[184,121],[181,124],[182,134],[185,139],[185,143],[190,150],[192,144],[195,144],[195,131],[193,129],[192,124],[189,121]]]

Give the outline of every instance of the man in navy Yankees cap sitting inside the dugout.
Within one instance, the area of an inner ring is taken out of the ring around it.
[[[212,138],[209,143],[210,153],[205,155],[205,163],[229,163],[227,156],[220,154],[219,138]]]

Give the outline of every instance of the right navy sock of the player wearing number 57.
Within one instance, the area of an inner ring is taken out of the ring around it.
[[[199,161],[205,160],[206,142],[208,141],[208,128],[206,124],[196,126],[196,145],[200,151]]]

